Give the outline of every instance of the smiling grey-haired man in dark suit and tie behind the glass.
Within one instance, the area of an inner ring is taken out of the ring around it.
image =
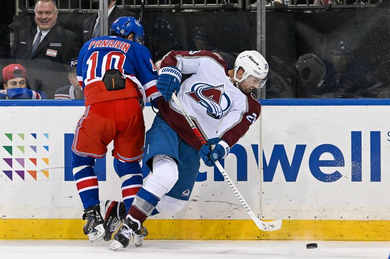
[[[19,33],[15,54],[35,90],[53,98],[58,86],[67,84],[67,61],[78,55],[81,44],[78,35],[57,24],[54,0],[38,0],[34,11],[37,27]]]

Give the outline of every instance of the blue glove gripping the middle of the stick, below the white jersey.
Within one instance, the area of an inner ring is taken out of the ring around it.
[[[207,145],[200,148],[199,155],[207,166],[213,166],[215,161],[225,158],[230,152],[228,143],[220,138],[210,138]]]

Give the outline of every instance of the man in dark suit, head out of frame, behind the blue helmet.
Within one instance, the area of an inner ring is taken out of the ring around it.
[[[96,5],[97,8],[99,5],[99,0],[93,0],[93,3]],[[138,15],[134,12],[130,12],[127,10],[124,10],[122,8],[117,7],[117,0],[110,0],[107,10],[108,10],[108,28],[110,28],[111,24],[118,18],[122,16],[132,16],[132,17],[138,17]],[[88,40],[92,38],[96,38],[100,35],[100,27],[99,27],[99,13],[88,17],[84,21],[83,26],[83,42],[87,42]]]

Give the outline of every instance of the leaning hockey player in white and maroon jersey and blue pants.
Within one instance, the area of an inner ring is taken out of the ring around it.
[[[158,113],[146,132],[143,156],[152,175],[137,192],[110,249],[126,247],[150,215],[179,211],[193,190],[200,158],[214,166],[259,117],[260,104],[252,91],[264,86],[267,61],[256,51],[245,51],[234,69],[227,68],[208,51],[172,51],[164,56],[156,84],[162,97],[152,101]],[[182,74],[191,76],[180,85]],[[170,101],[174,91],[207,145],[201,145]]]

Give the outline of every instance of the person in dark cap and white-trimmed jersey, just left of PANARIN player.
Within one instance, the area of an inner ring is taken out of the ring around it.
[[[54,99],[84,99],[84,94],[82,92],[81,86],[78,83],[76,68],[77,68],[77,57],[72,58],[68,62],[68,79],[70,82],[69,86],[62,86],[57,89],[54,93]]]

